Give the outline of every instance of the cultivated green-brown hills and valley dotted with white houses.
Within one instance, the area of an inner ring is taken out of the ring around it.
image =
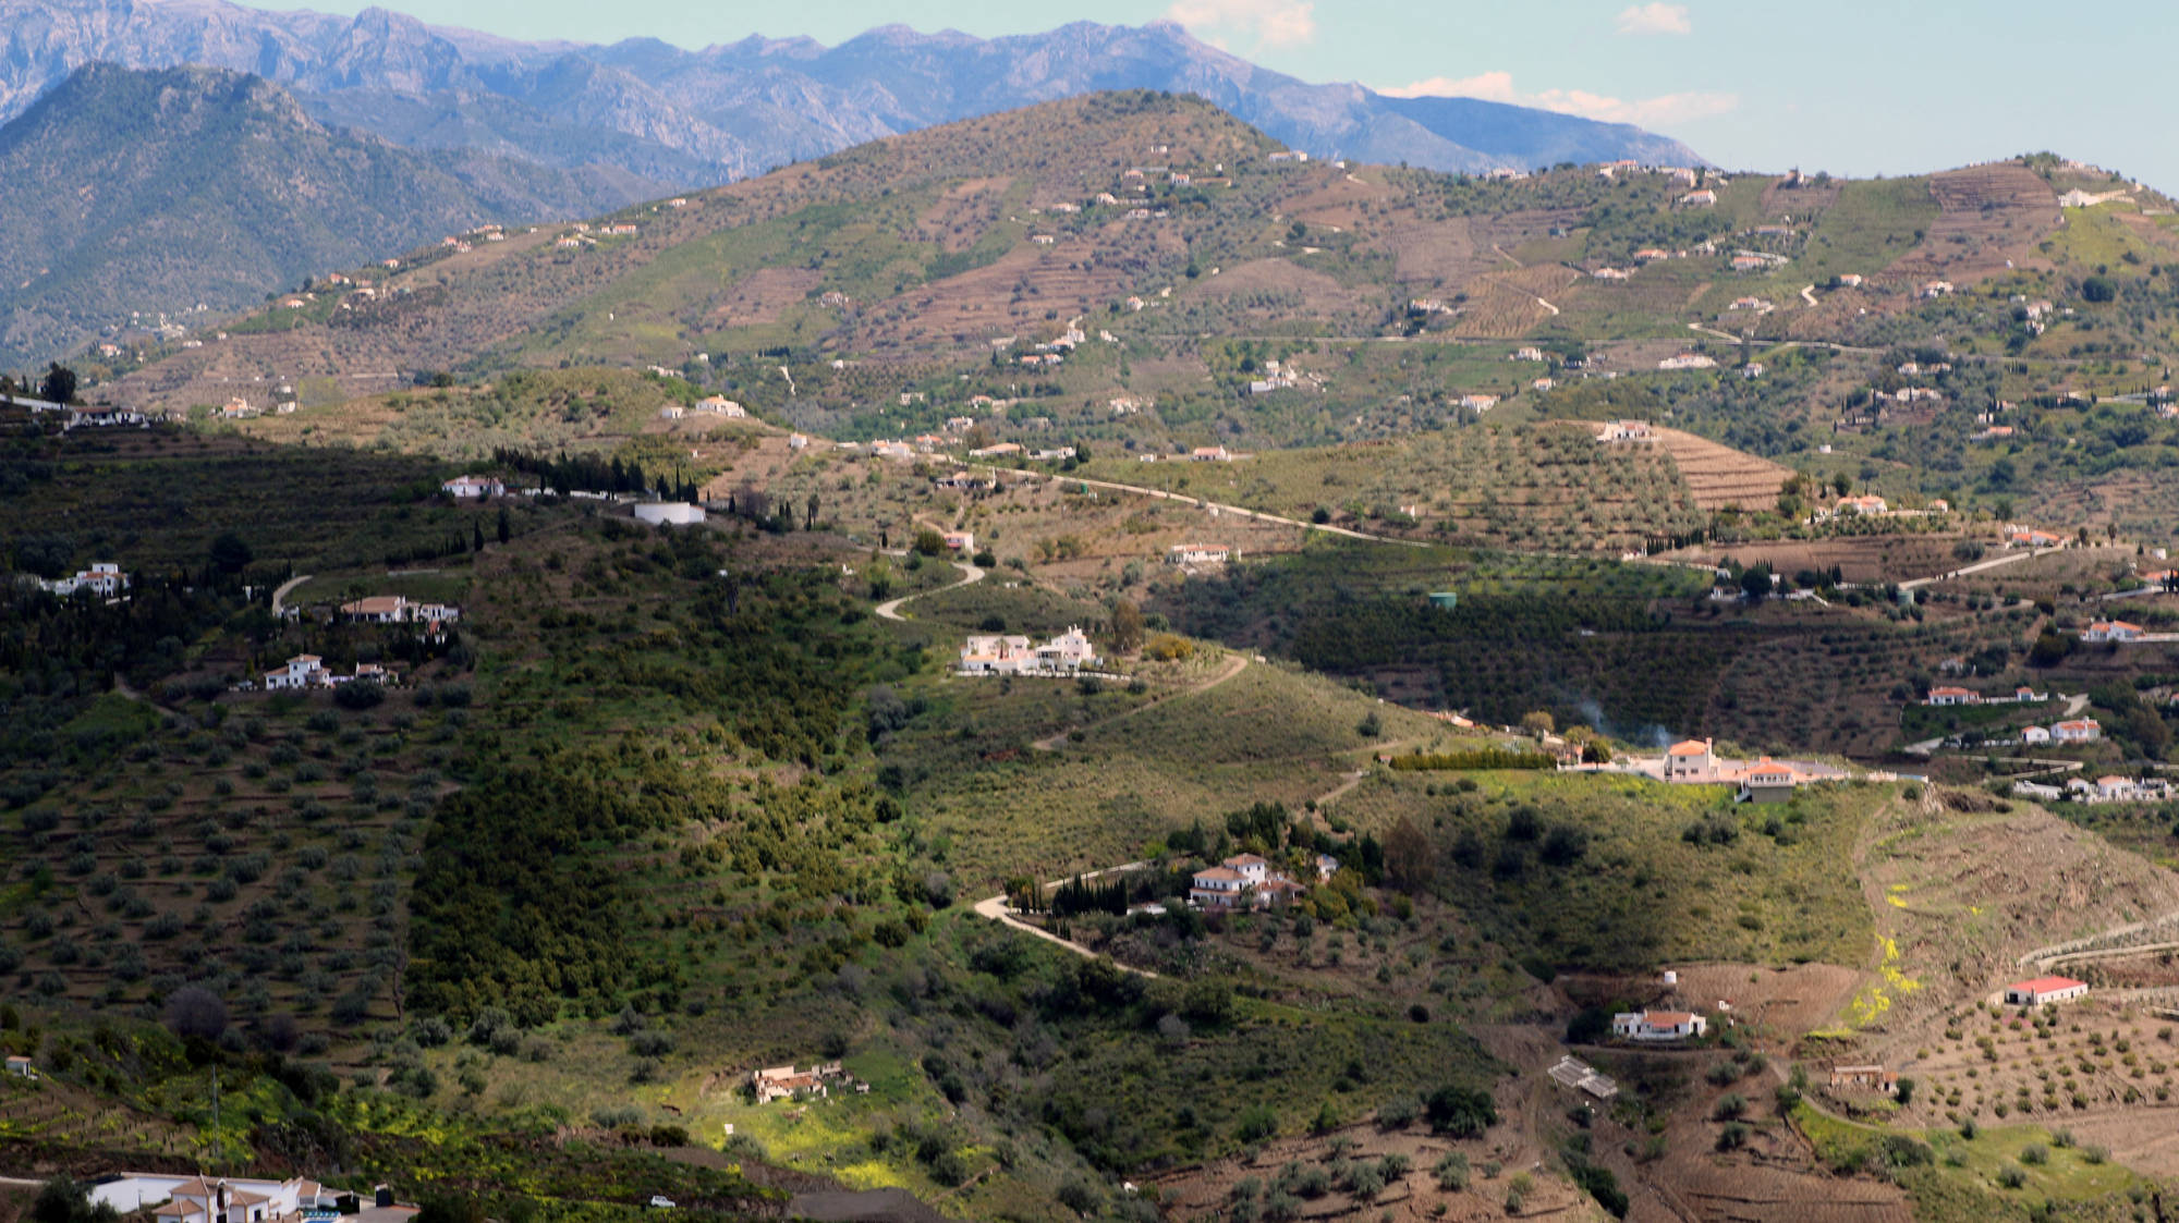
[[[1107,91],[11,381],[0,1171],[2162,1216],[2170,211]]]

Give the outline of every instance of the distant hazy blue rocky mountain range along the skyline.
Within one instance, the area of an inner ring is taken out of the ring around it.
[[[386,9],[342,17],[224,0],[9,0],[0,26],[9,28],[0,118],[85,63],[209,63],[266,74],[303,94],[318,118],[416,148],[610,165],[660,192],[1096,89],[1201,94],[1318,157],[1438,170],[1697,161],[1626,124],[1310,85],[1168,22],[1074,22],[1000,39],[882,26],[832,48],[752,35],[702,50],[658,39],[521,44]]]

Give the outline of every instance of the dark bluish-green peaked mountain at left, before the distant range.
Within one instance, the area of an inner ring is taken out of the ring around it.
[[[580,213],[608,176],[410,152],[255,76],[92,65],[0,126],[0,366],[203,322],[484,222]],[[65,207],[54,207],[65,198]]]

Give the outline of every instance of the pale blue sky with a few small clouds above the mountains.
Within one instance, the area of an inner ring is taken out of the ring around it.
[[[264,2],[264,0],[259,0]],[[279,0],[272,0],[275,4]],[[292,2],[292,0],[290,0]],[[303,0],[353,11],[353,0]],[[1305,81],[1636,122],[1730,168],[1900,174],[2053,148],[2179,192],[2172,0],[390,0],[523,39],[826,44],[904,22],[1009,35],[1172,17]],[[2144,48],[2133,54],[2131,48]]]

